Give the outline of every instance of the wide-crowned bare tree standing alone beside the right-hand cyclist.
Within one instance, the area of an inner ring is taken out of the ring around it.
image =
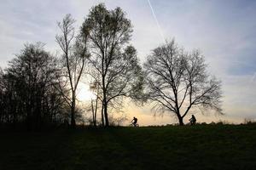
[[[148,98],[156,111],[175,114],[180,125],[192,108],[221,113],[221,82],[207,74],[198,50],[186,53],[172,40],[155,48],[144,63]]]

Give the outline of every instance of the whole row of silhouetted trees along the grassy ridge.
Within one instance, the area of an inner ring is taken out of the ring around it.
[[[121,8],[108,10],[103,3],[90,9],[75,34],[72,16],[58,22],[56,42],[61,56],[53,57],[42,43],[26,45],[0,75],[0,122],[70,122],[78,117],[77,89],[85,76],[96,94],[90,110],[96,126],[108,127],[108,114],[122,107],[123,99],[152,101],[156,111],[174,113],[180,125],[190,109],[220,110],[220,82],[206,71],[199,51],[187,53],[177,44],[155,48],[140,65],[131,46],[131,20]]]

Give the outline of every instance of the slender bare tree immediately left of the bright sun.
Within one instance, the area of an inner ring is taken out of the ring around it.
[[[63,69],[61,72],[64,73],[62,79],[67,79],[68,90],[70,91],[71,97],[64,95],[67,104],[71,108],[71,126],[75,127],[75,111],[76,111],[76,92],[79,86],[79,81],[83,75],[86,59],[89,57],[87,54],[87,35],[83,34],[83,37],[75,37],[74,24],[71,14],[67,14],[65,18],[58,22],[58,26],[61,29],[61,34],[56,36],[56,42],[58,42],[63,55]],[[57,89],[63,91],[66,86],[61,86]]]

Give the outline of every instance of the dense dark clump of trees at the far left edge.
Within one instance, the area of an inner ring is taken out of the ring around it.
[[[56,74],[55,59],[44,51],[44,44],[27,44],[1,78],[3,122],[26,122],[29,129],[51,122],[61,107],[61,96],[53,86]]]

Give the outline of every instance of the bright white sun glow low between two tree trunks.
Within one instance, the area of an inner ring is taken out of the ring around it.
[[[81,102],[90,101],[90,99],[95,99],[95,94],[90,91],[87,84],[82,82],[78,87],[77,99],[79,99]]]

